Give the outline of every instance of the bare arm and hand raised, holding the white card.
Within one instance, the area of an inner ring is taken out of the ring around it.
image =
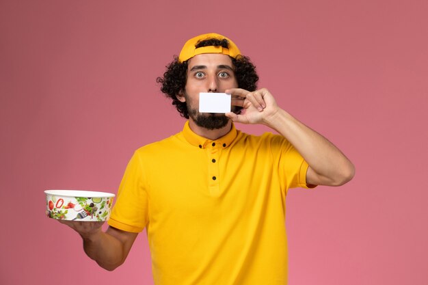
[[[351,180],[355,168],[334,144],[278,107],[269,90],[254,92],[235,88],[232,105],[243,107],[239,115],[226,113],[234,122],[265,124],[283,135],[309,165],[306,182],[310,185],[339,186]]]

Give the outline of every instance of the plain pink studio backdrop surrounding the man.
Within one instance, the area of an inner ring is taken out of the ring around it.
[[[289,284],[428,284],[427,14],[425,0],[1,1],[0,284],[152,284],[144,233],[104,271],[44,216],[43,191],[116,193],[133,151],[185,122],[156,77],[212,31],[356,165],[340,189],[290,191]]]

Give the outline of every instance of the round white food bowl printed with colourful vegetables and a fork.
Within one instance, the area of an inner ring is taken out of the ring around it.
[[[82,190],[46,190],[46,215],[66,221],[107,221],[114,194]]]

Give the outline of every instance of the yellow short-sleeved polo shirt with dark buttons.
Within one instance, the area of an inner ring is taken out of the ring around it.
[[[139,148],[109,225],[146,228],[157,285],[286,284],[285,196],[308,164],[280,135],[182,132]]]

